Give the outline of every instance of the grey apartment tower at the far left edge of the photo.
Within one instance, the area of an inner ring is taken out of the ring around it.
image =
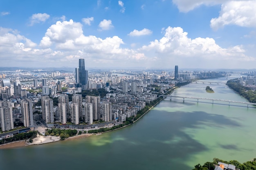
[[[0,122],[3,132],[14,128],[11,102],[0,101]]]

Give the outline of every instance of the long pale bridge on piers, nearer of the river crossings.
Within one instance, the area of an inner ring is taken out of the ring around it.
[[[183,98],[183,101],[185,101],[185,99],[197,99],[197,102],[199,102],[199,100],[211,100],[212,104],[214,104],[213,101],[220,101],[220,102],[229,102],[229,106],[230,103],[240,103],[240,104],[247,104],[247,107],[249,107],[249,105],[254,105],[256,106],[256,103],[250,103],[250,102],[238,102],[238,101],[233,101],[233,100],[224,100],[224,99],[210,99],[210,98],[203,98],[203,97],[185,97],[185,96],[172,96],[172,95],[161,95],[164,97],[178,97],[178,98]]]

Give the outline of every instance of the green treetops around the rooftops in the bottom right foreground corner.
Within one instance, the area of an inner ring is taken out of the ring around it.
[[[247,161],[245,163],[240,163],[236,160],[223,161],[218,158],[213,158],[213,162],[206,162],[204,165],[197,164],[193,170],[214,170],[215,166],[218,165],[218,162],[232,164],[240,170],[256,170],[256,158],[254,158],[253,161]]]

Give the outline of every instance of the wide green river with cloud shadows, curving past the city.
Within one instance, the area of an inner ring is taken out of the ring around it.
[[[207,93],[206,86],[215,93]],[[247,102],[224,84],[192,83],[172,95]],[[191,170],[214,157],[242,163],[256,157],[256,108],[233,105],[167,97],[135,124],[120,130],[0,150],[0,169]]]

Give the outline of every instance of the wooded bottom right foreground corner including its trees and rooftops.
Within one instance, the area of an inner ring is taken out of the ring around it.
[[[228,166],[228,168],[226,167]],[[245,163],[240,163],[236,160],[233,161],[223,161],[218,158],[213,158],[212,162],[206,162],[204,165],[197,164],[194,166],[192,170],[223,170],[229,169],[229,170],[256,170],[256,158],[253,159],[253,161],[247,161]]]

